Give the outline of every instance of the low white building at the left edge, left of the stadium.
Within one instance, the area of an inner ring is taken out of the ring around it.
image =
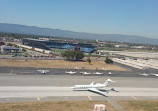
[[[12,46],[1,46],[1,53],[18,53],[20,48],[12,47]]]

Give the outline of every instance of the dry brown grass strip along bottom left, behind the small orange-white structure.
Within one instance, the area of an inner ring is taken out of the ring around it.
[[[105,104],[108,111],[117,111],[106,101],[1,103],[0,111],[94,111],[95,104]]]

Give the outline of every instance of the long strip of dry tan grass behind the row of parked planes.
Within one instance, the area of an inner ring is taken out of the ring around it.
[[[78,67],[79,69],[98,69],[103,70],[118,70],[118,71],[127,71],[124,68],[121,68],[116,65],[105,64],[103,61],[92,61],[91,64],[88,62],[72,62],[65,60],[14,60],[14,59],[3,59],[0,60],[0,66],[3,67],[35,67],[35,68],[67,68],[74,69]]]

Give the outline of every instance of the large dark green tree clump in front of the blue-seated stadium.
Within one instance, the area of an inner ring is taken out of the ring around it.
[[[62,57],[69,61],[79,61],[84,58],[82,52],[68,50],[62,53]]]

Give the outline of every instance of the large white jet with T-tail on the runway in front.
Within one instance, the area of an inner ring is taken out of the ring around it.
[[[106,94],[109,91],[118,92],[114,88],[111,88],[110,90],[100,89],[100,88],[108,87],[109,82],[115,82],[115,81],[112,81],[111,79],[107,79],[105,81],[105,83],[103,83],[103,84],[101,84],[101,83],[94,84],[94,81],[93,81],[90,85],[74,85],[74,86],[71,87],[71,89],[73,89],[73,90],[83,90],[83,89],[85,89],[85,90],[88,90],[88,91],[91,91],[91,92],[94,92],[94,93],[98,93],[98,94],[103,95],[103,96],[107,96]]]

